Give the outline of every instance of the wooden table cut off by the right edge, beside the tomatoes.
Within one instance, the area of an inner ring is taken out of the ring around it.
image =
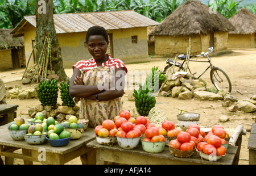
[[[256,165],[256,123],[251,125],[247,148],[249,149],[249,165]]]

